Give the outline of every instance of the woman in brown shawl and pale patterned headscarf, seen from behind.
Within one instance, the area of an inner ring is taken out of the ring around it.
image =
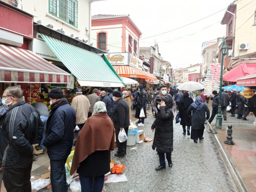
[[[81,190],[102,191],[104,175],[110,171],[110,150],[114,150],[115,132],[105,103],[98,101],[81,129],[70,170],[79,173]],[[92,189],[93,186],[93,189]]]

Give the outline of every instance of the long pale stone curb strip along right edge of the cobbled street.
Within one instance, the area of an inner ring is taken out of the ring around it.
[[[218,129],[217,129],[218,130]],[[223,147],[222,141],[220,140],[218,134],[211,134],[213,140],[215,141],[217,147],[220,150],[220,154],[228,168],[228,171],[234,181],[234,184],[237,190],[243,192],[250,192],[250,189],[246,182],[243,180],[243,177],[240,175],[236,165],[232,162],[230,155],[228,154],[227,150]]]

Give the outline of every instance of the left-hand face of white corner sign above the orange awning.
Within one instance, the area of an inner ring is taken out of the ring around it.
[[[111,65],[128,65],[129,53],[108,53],[105,56]]]

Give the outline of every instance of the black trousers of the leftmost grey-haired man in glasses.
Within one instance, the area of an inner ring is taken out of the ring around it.
[[[33,161],[31,160],[24,166],[4,169],[3,184],[7,192],[31,191],[30,173],[32,164]]]

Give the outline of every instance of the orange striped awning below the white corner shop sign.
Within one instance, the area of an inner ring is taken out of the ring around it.
[[[149,79],[152,81],[157,81],[157,78],[153,74],[139,70],[135,67],[131,67],[128,65],[119,65],[119,66],[113,65],[113,68],[115,69],[115,71],[120,77],[140,78],[140,79]]]

